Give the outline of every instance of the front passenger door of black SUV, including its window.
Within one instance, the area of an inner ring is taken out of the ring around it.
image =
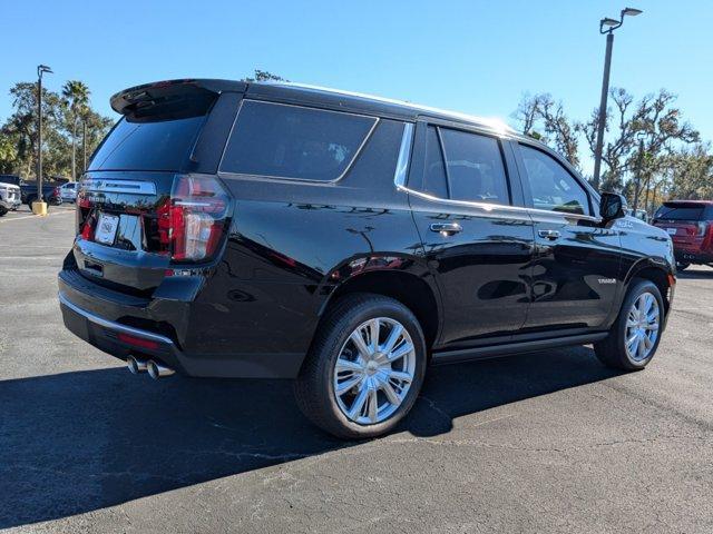
[[[514,147],[535,225],[525,330],[603,327],[619,285],[621,236],[593,216],[593,192],[540,147]]]

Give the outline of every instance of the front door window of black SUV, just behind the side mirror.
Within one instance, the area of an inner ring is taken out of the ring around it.
[[[535,208],[589,215],[586,191],[556,159],[522,145],[520,151]]]

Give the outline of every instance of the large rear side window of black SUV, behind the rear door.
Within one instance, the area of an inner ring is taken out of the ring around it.
[[[334,180],[349,167],[377,119],[245,101],[221,170],[304,180]]]

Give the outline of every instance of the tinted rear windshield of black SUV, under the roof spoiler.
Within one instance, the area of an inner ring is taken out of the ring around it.
[[[124,118],[91,158],[89,170],[179,170],[205,116],[133,122]]]

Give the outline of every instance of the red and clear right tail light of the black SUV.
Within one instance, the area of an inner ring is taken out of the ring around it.
[[[209,259],[225,233],[229,197],[213,177],[174,179],[170,198],[158,209],[158,239],[175,261]]]

